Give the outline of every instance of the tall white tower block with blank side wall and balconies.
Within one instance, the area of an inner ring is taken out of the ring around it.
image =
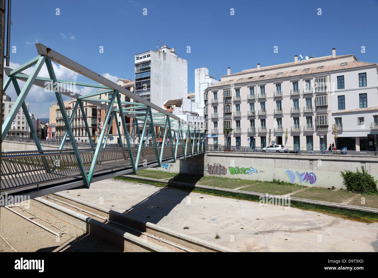
[[[159,107],[187,94],[187,60],[166,45],[135,55],[135,94]],[[138,109],[135,109],[138,110]],[[145,110],[145,109],[139,109]]]

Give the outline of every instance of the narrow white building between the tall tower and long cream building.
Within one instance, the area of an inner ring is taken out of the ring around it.
[[[204,92],[206,88],[217,84],[220,81],[209,75],[209,69],[206,67],[196,68],[194,70],[194,96],[197,107],[201,109],[200,116],[203,116],[203,107],[205,106]]]

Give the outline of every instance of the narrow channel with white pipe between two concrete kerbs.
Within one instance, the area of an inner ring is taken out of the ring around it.
[[[127,233],[130,233],[134,236],[140,237],[143,239],[144,242],[153,242],[154,244],[160,245],[161,247],[168,248],[174,252],[197,252],[194,249],[191,249],[189,247],[184,247],[182,245],[175,244],[174,242],[168,241],[166,239],[161,238],[160,236],[150,235],[149,233],[137,230],[135,228],[130,227],[129,225],[125,225],[121,222],[114,221],[111,219],[108,219],[106,217],[100,216],[99,214],[91,213],[90,211],[84,210],[84,208],[80,208],[77,205],[72,205],[69,203],[69,200],[66,200],[66,202],[62,200],[58,200],[51,196],[43,196],[46,200],[49,200],[50,202],[59,202],[59,205],[65,208],[68,208],[70,210],[76,211],[80,214],[83,214],[85,216],[89,216],[92,219],[95,219],[97,221],[100,221],[106,225],[112,225],[113,227],[116,227],[118,229],[121,229],[123,231],[127,231]]]

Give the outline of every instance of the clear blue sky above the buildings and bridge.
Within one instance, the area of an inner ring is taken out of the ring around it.
[[[377,63],[377,14],[377,1],[13,1],[11,46],[17,52],[11,62],[37,56],[34,43],[40,42],[99,74],[133,80],[134,54],[156,50],[162,40],[187,59],[188,92],[194,92],[194,69],[204,65],[220,79],[227,67],[233,73],[289,62],[296,54],[330,55],[332,48]],[[66,75],[84,81],[62,70]],[[26,99],[41,118],[54,101],[42,93],[36,89]]]

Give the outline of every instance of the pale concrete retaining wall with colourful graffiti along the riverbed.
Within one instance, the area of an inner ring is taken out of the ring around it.
[[[364,166],[378,179],[378,157],[372,156],[207,152],[172,164],[160,171],[260,181],[280,179],[305,186],[341,188],[340,171],[361,171]]]

